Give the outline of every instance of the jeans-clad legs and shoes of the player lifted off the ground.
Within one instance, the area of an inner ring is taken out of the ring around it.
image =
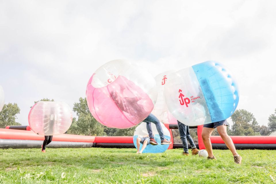
[[[147,132],[150,136],[150,144],[158,145],[158,143],[155,141],[154,135],[152,133],[152,123],[155,124],[156,129],[158,131],[158,134],[160,135],[161,144],[170,144],[170,143],[172,143],[171,141],[168,141],[168,139],[165,139],[160,121],[152,113],[150,113],[150,115],[147,116],[147,118],[145,118],[145,120],[143,120],[143,122],[146,122],[146,124],[147,124]]]

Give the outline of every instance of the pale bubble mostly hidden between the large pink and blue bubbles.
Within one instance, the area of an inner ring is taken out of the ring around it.
[[[152,114],[154,114],[161,122],[169,123],[169,124],[177,124],[177,120],[168,110],[165,97],[164,97],[164,86],[166,85],[166,81],[168,78],[168,74],[173,71],[166,71],[161,74],[158,74],[155,77],[156,81],[156,89],[158,92],[156,103],[154,105],[154,109]]]

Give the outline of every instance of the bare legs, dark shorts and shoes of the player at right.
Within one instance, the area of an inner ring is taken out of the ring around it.
[[[216,128],[219,135],[221,136],[222,140],[224,141],[225,145],[232,152],[232,154],[234,156],[234,162],[236,164],[240,164],[242,158],[241,158],[241,156],[239,156],[239,154],[237,154],[235,145],[234,145],[231,137],[229,137],[229,135],[227,134],[227,131],[226,131],[227,126],[228,126],[227,120],[222,120],[222,121],[203,125],[202,139],[203,139],[203,143],[206,147],[206,150],[208,152],[208,159],[216,159],[215,156],[213,155],[212,144],[211,144],[211,140],[210,140],[210,136],[211,136],[213,130]]]

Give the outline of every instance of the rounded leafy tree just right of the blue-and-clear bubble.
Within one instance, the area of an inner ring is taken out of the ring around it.
[[[231,119],[233,121],[232,135],[260,135],[260,126],[251,112],[236,110]]]

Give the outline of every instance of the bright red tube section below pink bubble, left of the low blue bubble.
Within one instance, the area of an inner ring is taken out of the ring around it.
[[[133,143],[133,136],[95,136],[95,143]]]

